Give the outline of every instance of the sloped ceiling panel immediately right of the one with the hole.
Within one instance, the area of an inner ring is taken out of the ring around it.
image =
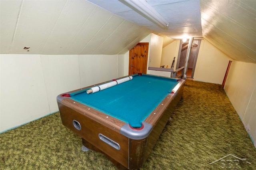
[[[85,7],[87,10],[84,10]],[[61,13],[57,12],[52,19],[51,30],[42,44],[41,53],[64,54],[94,9],[95,6],[86,1],[68,1]]]

